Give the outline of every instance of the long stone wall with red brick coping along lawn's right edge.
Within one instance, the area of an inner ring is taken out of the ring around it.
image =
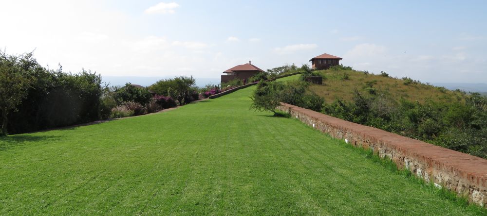
[[[346,143],[372,149],[380,157],[392,159],[426,182],[445,186],[469,201],[487,204],[487,160],[462,152],[389,133],[287,103],[278,109],[303,123]]]

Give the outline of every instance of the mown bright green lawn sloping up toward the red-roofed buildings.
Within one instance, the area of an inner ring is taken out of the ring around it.
[[[0,139],[0,215],[480,215],[295,119],[255,86]]]

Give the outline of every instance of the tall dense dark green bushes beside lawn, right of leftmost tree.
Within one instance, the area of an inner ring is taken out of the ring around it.
[[[2,56],[8,56],[2,53]],[[11,72],[21,74],[30,82],[26,95],[16,106],[17,112],[10,112],[8,119],[0,116],[7,119],[9,133],[25,133],[101,118],[100,97],[104,89],[99,74],[84,69],[80,73],[65,73],[61,66],[57,70],[48,70],[40,66],[31,53],[20,59],[23,66]],[[0,79],[0,82],[4,81],[7,79]]]

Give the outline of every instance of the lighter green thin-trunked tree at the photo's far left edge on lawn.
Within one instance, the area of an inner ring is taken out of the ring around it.
[[[15,111],[17,106],[27,96],[27,90],[32,83],[29,71],[38,64],[32,58],[32,53],[24,55],[7,55],[0,50],[0,112],[2,125],[0,136],[7,135],[8,114]]]

